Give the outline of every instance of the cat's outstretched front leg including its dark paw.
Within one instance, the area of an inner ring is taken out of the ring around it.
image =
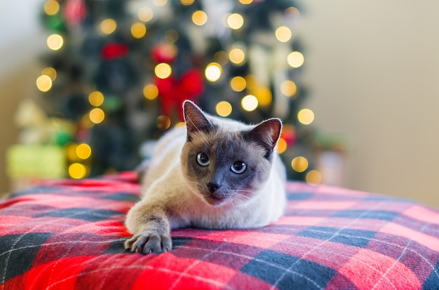
[[[127,214],[126,227],[133,237],[125,248],[143,254],[161,253],[172,248],[166,211],[154,202],[138,202]]]

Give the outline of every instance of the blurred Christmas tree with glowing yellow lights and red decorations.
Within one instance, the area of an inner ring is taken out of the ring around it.
[[[288,0],[46,1],[51,51],[37,85],[48,116],[72,123],[53,138],[69,176],[132,170],[191,99],[245,123],[282,118],[278,151],[305,179],[313,112],[301,107],[298,18]]]

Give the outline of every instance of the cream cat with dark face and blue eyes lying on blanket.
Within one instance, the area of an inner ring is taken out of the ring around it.
[[[130,251],[172,248],[171,228],[255,228],[285,211],[278,118],[258,125],[211,116],[183,104],[185,126],[158,140],[142,180],[142,200],[126,216]]]

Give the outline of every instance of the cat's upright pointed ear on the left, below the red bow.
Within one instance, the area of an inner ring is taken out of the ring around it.
[[[183,103],[184,123],[186,123],[188,137],[194,132],[210,132],[213,129],[212,123],[205,113],[191,101]]]

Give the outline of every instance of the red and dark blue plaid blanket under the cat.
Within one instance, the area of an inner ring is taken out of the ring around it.
[[[132,172],[51,181],[0,202],[0,289],[439,289],[439,211],[288,183],[283,218],[248,230],[173,230],[133,254]]]

